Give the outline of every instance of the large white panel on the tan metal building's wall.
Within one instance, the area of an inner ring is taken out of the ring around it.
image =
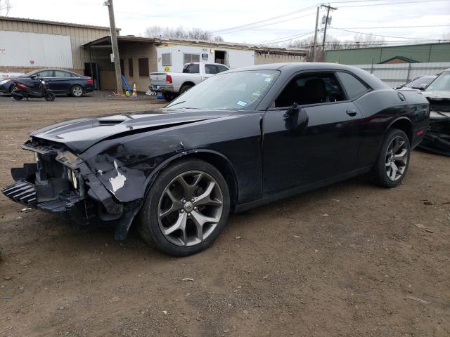
[[[1,30],[0,67],[72,68],[70,37]]]

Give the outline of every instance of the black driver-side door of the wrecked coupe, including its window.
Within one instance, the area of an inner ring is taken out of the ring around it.
[[[285,117],[293,103],[307,113],[306,128],[294,128],[295,122]],[[361,119],[334,72],[293,77],[264,115],[264,194],[325,183],[354,171]]]

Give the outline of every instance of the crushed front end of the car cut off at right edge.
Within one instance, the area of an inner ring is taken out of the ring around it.
[[[430,126],[419,147],[450,157],[450,92],[424,92],[430,102]]]

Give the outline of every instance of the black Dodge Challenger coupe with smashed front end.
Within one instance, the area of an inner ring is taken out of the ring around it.
[[[210,246],[231,211],[363,173],[399,185],[429,104],[355,67],[259,65],[217,74],[164,109],[30,133],[35,161],[4,194],[82,225],[133,221],[165,253]]]

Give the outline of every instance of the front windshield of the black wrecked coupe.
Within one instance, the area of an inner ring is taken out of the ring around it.
[[[280,72],[248,70],[217,74],[191,88],[167,109],[252,110]]]

